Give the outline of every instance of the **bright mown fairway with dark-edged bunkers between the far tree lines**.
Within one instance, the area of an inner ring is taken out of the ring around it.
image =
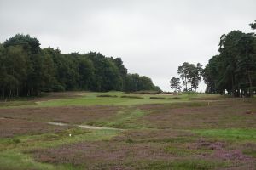
[[[116,97],[99,98],[97,95],[109,95]],[[125,97],[124,97],[125,96]],[[211,96],[211,95],[210,95]],[[178,102],[191,102],[189,98],[206,98],[209,94],[182,94],[177,96],[154,95],[154,94],[124,94],[121,92],[88,93],[84,97],[76,99],[53,99],[38,102],[39,107],[55,107],[69,105],[148,105],[148,104],[171,104]],[[218,99],[219,95],[212,98]],[[193,102],[193,101],[192,101]]]

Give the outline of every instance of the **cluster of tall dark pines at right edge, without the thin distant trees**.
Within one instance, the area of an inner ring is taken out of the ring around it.
[[[255,26],[251,24],[252,28]],[[253,96],[256,86],[256,37],[253,33],[230,31],[220,37],[219,54],[203,71],[207,93],[235,97]]]

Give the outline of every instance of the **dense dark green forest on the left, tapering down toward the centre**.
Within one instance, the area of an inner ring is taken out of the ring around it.
[[[41,92],[90,90],[160,90],[149,77],[129,74],[122,59],[100,53],[61,54],[40,48],[37,38],[17,34],[0,43],[0,96],[35,96]]]

